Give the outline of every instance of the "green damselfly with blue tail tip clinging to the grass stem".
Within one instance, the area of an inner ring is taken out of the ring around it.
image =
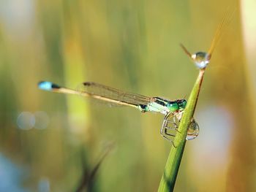
[[[165,118],[162,123],[160,134],[172,143],[173,140],[171,138],[175,137],[176,134],[170,133],[170,130],[178,131],[178,123],[180,122],[187,105],[185,99],[170,101],[158,96],[148,97],[137,93],[120,91],[116,88],[111,88],[97,82],[83,82],[78,86],[77,90],[65,88],[49,81],[39,82],[38,87],[44,91],[76,94],[105,101],[113,105],[134,107],[140,110],[140,112],[162,113],[165,115]],[[194,139],[197,137],[198,132],[199,127],[195,120],[192,120],[191,126],[189,126],[188,129],[187,139]]]

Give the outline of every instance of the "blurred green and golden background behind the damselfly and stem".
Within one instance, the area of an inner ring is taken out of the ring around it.
[[[255,1],[0,1],[0,191],[75,191],[110,142],[91,191],[157,191],[170,143],[163,116],[41,91],[95,81],[146,96],[189,96],[225,27],[195,111],[176,191],[255,191]],[[232,11],[231,11],[232,12]]]

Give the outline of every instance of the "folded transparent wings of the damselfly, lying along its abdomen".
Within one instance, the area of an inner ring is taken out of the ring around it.
[[[78,86],[78,92],[81,95],[90,96],[117,105],[138,106],[151,102],[151,97],[120,91],[97,82],[83,82]]]

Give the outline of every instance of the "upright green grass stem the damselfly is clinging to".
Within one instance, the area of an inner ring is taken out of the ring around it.
[[[167,163],[165,165],[165,171],[159,184],[159,192],[173,191],[176,177],[178,174],[178,168],[181,164],[181,158],[184,152],[184,147],[186,145],[187,129],[191,123],[195,112],[195,107],[197,104],[200,87],[203,81],[204,72],[205,69],[200,69],[195,85],[189,95],[187,107],[184,110],[184,114],[181,118],[181,123],[178,126],[178,133],[176,134],[176,137],[174,139],[174,145],[176,147],[172,147],[170,150],[170,154],[167,158]]]

